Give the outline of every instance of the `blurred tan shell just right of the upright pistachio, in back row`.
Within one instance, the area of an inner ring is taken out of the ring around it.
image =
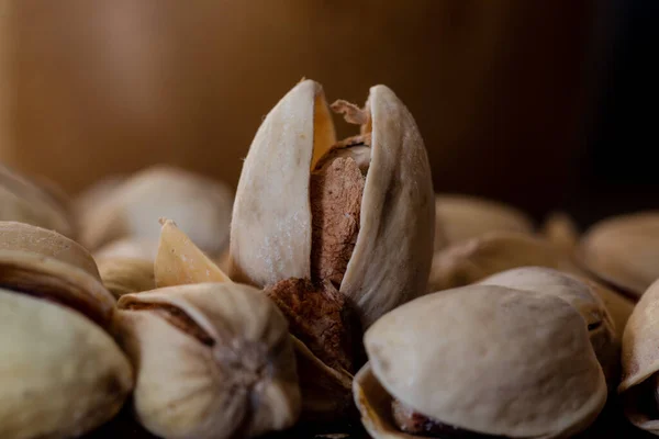
[[[533,221],[524,212],[472,195],[437,194],[435,221],[437,229],[443,232],[435,232],[435,251],[489,232],[534,232]]]

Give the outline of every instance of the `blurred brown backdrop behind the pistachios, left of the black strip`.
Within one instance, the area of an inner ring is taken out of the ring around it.
[[[0,159],[70,192],[160,161],[235,184],[302,76],[359,103],[386,83],[436,190],[544,214],[583,185],[603,4],[0,0]]]

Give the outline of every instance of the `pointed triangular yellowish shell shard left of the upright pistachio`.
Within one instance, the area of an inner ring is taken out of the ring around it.
[[[160,244],[155,262],[156,285],[231,282],[217,266],[171,219],[160,219]]]

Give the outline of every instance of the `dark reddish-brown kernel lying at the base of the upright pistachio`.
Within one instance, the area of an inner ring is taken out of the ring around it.
[[[359,323],[330,282],[320,286],[306,279],[287,279],[266,288],[289,322],[290,333],[326,365],[353,372]]]

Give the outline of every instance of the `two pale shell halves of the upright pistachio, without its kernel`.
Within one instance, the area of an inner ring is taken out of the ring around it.
[[[359,234],[339,291],[354,301],[368,327],[425,292],[435,210],[425,146],[405,105],[389,88],[376,86],[365,113],[361,134],[371,135],[370,166]],[[323,89],[312,80],[297,85],[266,116],[236,192],[234,280],[263,288],[310,278],[310,175],[335,140]]]

